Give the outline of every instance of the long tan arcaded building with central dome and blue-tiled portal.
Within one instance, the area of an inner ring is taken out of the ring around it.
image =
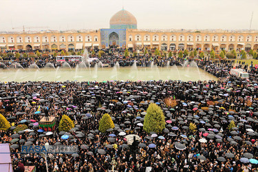
[[[0,50],[83,50],[123,47],[129,50],[258,50],[258,32],[226,30],[139,30],[137,20],[120,10],[109,29],[0,34]]]

